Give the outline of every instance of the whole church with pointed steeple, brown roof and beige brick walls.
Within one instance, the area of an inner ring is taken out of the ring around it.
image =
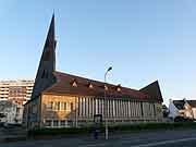
[[[44,46],[23,124],[37,127],[81,127],[100,115],[108,124],[162,121],[158,81],[142,89],[108,84],[56,70],[54,15]],[[69,64],[69,63],[68,63]],[[105,99],[106,93],[106,99]]]

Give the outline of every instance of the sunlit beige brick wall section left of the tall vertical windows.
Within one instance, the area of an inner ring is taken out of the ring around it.
[[[76,117],[76,98],[71,96],[42,95],[41,124],[47,121],[66,121],[73,126]],[[53,125],[52,125],[53,126]]]

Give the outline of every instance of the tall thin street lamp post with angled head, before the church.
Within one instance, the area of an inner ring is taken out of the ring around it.
[[[106,91],[107,91],[107,74],[112,70],[112,66],[110,66],[107,72],[105,73],[105,135],[106,139],[108,139],[108,102],[106,99]]]

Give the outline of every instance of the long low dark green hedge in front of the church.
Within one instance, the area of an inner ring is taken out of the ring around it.
[[[175,128],[196,128],[194,122],[183,123],[140,123],[140,124],[126,124],[126,125],[113,125],[109,126],[109,131],[113,133],[118,132],[138,132],[150,130],[175,130]],[[28,131],[29,136],[39,135],[73,135],[73,134],[90,134],[94,128],[87,127],[64,127],[64,128],[39,128]],[[100,132],[105,132],[105,126],[100,127]]]

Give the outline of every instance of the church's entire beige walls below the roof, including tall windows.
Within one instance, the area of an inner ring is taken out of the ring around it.
[[[105,115],[103,102],[102,98],[96,97],[44,94],[39,100],[28,106],[29,109],[37,109],[37,115],[33,114],[37,120],[32,119],[36,121],[32,121],[29,127],[77,127],[93,124],[95,114]],[[107,102],[109,124],[160,122],[162,119],[161,103],[117,98],[110,98]]]

